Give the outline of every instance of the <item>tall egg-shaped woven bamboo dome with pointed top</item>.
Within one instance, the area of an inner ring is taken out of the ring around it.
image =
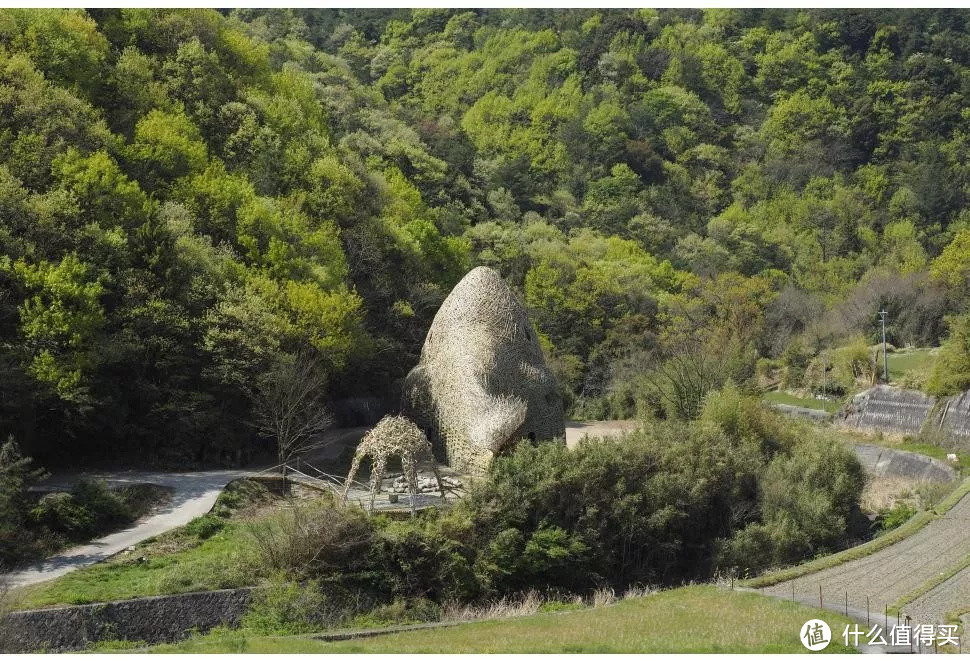
[[[442,303],[405,380],[403,409],[439,458],[469,473],[484,473],[520,439],[565,438],[529,316],[494,270],[473,269]]]

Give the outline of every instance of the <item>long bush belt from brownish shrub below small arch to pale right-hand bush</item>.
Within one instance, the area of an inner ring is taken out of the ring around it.
[[[730,384],[692,422],[567,450],[520,444],[446,513],[367,519],[321,503],[254,525],[263,563],[379,599],[676,585],[795,562],[865,535],[843,445]]]

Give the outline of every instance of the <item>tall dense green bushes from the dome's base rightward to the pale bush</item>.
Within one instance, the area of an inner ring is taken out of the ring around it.
[[[843,546],[865,479],[841,444],[736,389],[693,423],[573,451],[521,445],[468,505],[486,590],[669,583]]]

